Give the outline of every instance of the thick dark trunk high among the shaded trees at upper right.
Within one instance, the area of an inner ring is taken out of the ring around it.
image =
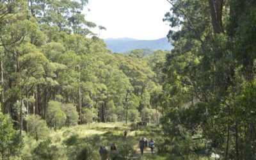
[[[212,28],[214,33],[223,33],[223,24],[222,24],[222,9],[223,9],[223,0],[208,0],[211,19],[212,19]]]

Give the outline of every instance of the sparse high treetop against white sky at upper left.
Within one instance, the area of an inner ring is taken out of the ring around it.
[[[96,24],[87,21],[82,13],[84,6],[88,4],[87,0],[79,1],[45,1],[45,0],[27,0],[28,8],[36,17],[40,25],[58,26],[58,31],[74,33],[79,35],[93,34],[90,28],[95,28]],[[51,25],[49,25],[51,24]]]

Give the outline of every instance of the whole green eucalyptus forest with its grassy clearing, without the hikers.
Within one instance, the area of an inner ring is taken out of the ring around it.
[[[256,159],[256,1],[166,1],[173,49],[143,56],[106,47],[88,0],[0,0],[0,159]]]

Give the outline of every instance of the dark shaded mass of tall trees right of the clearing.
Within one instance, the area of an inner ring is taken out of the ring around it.
[[[255,132],[255,3],[212,2],[169,1],[173,7],[164,20],[179,30],[168,33],[174,48],[166,62],[153,66],[166,79],[166,94],[160,94],[168,107],[163,129],[166,139],[180,141],[176,148],[182,156],[192,156],[185,148],[195,150],[188,143],[199,137],[195,141],[211,142],[208,156],[215,152],[223,159],[253,159],[255,144],[250,148],[247,142],[255,140],[250,134]]]

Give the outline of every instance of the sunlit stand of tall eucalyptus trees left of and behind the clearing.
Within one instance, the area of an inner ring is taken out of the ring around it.
[[[25,113],[54,129],[76,125],[78,116],[79,124],[124,120],[127,91],[128,109],[150,106],[155,74],[147,59],[140,50],[108,54],[103,40],[86,37],[96,27],[81,13],[88,1],[4,1],[3,8],[8,3],[15,16],[0,23],[3,110],[12,112],[20,131]]]

